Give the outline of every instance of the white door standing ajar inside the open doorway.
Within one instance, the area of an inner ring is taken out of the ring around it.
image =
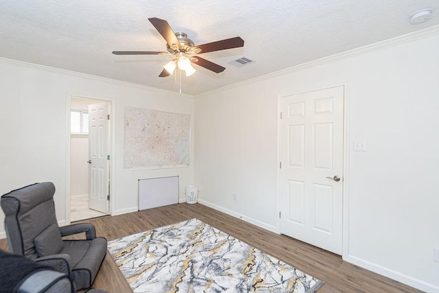
[[[88,105],[88,207],[108,213],[109,172],[108,103]]]

